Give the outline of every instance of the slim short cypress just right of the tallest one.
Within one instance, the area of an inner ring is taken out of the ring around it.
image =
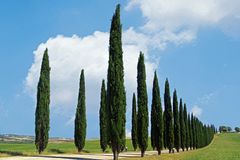
[[[136,96],[135,93],[133,93],[133,99],[132,99],[132,145],[134,151],[137,150],[137,104],[136,104]]]

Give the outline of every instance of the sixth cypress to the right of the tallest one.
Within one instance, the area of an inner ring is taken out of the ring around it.
[[[186,146],[186,127],[184,122],[182,99],[180,99],[179,120],[180,120],[181,148],[184,151]]]

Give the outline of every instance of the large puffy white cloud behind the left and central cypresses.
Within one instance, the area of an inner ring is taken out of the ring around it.
[[[134,35],[133,35],[134,34]],[[123,59],[125,71],[125,87],[128,106],[131,106],[132,92],[136,90],[137,60],[139,52],[145,53],[147,84],[150,87],[157,62],[150,62],[147,47],[131,29],[123,33]],[[51,107],[54,113],[67,116],[73,122],[79,76],[85,70],[87,114],[98,117],[100,87],[102,79],[106,79],[108,65],[109,34],[96,31],[85,37],[65,37],[58,35],[40,44],[34,51],[34,62],[25,80],[26,91],[35,98],[40,65],[45,48],[48,48],[51,66]],[[128,109],[128,112],[130,109]],[[129,113],[128,113],[129,114]]]

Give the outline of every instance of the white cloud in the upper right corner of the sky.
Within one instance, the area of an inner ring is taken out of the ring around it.
[[[146,20],[141,32],[154,37],[156,47],[191,42],[202,27],[240,34],[239,0],[130,0],[125,9],[134,7]]]

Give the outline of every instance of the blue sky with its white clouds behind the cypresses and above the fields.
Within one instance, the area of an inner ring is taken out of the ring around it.
[[[239,2],[118,2],[126,57],[128,134],[140,50],[146,56],[149,104],[156,69],[161,96],[168,77],[171,91],[176,88],[188,110],[203,122],[239,126]],[[84,68],[87,135],[98,137],[99,90],[101,79],[106,77],[108,31],[116,2],[0,3],[0,133],[34,135],[39,64],[48,47],[52,67],[50,135],[73,137],[79,73]]]

